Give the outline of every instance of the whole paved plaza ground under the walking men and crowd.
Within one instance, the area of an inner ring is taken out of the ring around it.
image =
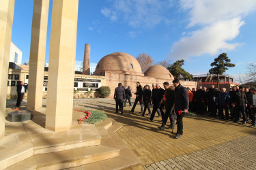
[[[8,101],[8,107],[13,103]],[[97,109],[122,124],[117,135],[142,162],[141,166],[130,169],[256,168],[256,129],[248,127],[251,124],[185,116],[184,135],[175,139],[170,130],[158,129],[160,118],[150,122],[148,116],[142,117],[139,105],[134,114],[129,112],[131,107],[124,107],[121,115],[115,113],[113,99],[75,99],[74,109]]]

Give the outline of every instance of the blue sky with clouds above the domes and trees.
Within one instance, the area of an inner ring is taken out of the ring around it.
[[[51,10],[48,14],[48,61]],[[32,0],[16,0],[12,42],[29,61]],[[256,61],[255,0],[80,0],[76,61],[83,61],[85,44],[91,45],[91,63],[112,52],[135,58],[150,54],[154,62],[185,59],[190,73],[208,73],[210,63],[226,52],[231,75],[244,74]]]

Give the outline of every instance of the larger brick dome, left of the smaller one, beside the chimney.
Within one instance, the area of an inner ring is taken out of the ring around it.
[[[94,74],[102,75],[105,71],[143,75],[143,73],[141,73],[141,65],[139,65],[137,59],[124,52],[114,52],[101,58]]]

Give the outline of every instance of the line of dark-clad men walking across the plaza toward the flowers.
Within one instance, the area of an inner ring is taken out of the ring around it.
[[[130,112],[134,113],[134,109],[138,102],[141,107],[141,116],[145,116],[145,113],[148,111],[147,115],[150,115],[150,121],[154,120],[157,112],[158,117],[162,117],[162,124],[158,127],[160,130],[165,129],[168,118],[170,118],[171,124],[169,127],[167,127],[167,129],[173,130],[176,119],[177,133],[175,133],[175,137],[180,138],[180,135],[183,135],[182,118],[184,117],[185,113],[188,112],[189,106],[188,89],[182,86],[178,79],[173,80],[173,86],[170,86],[168,82],[164,82],[163,87],[164,88],[161,88],[161,84],[152,84],[152,90],[150,90],[149,85],[142,87],[140,82],[137,82],[137,89],[136,92],[134,92],[136,98]],[[121,114],[123,114],[123,105],[126,106],[127,100],[131,106],[131,96],[132,93],[130,91],[130,86],[124,89],[122,83],[119,83],[118,87],[115,88],[114,94],[117,113],[120,111]],[[151,103],[153,104],[152,112],[150,109]]]

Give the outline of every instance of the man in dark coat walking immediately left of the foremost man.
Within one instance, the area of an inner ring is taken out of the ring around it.
[[[173,111],[173,105],[174,105],[174,90],[171,89],[168,82],[164,82],[164,88],[165,88],[165,95],[162,98],[161,103],[165,103],[165,114],[162,120],[162,126],[158,127],[160,130],[165,129],[165,125],[167,123],[168,117]],[[170,116],[170,121],[171,121],[171,126],[174,127],[175,116]]]

